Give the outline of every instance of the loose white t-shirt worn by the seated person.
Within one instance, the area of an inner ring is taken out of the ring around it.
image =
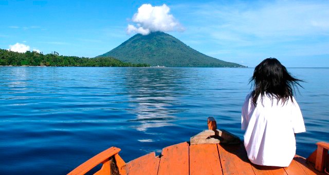
[[[250,94],[242,107],[241,129],[246,130],[244,145],[249,160],[257,165],[289,166],[296,154],[294,133],[305,132],[300,108],[293,97],[285,104],[264,95],[257,106]]]

